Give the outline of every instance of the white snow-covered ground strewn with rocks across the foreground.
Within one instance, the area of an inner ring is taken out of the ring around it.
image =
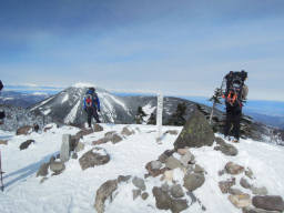
[[[121,130],[125,125],[102,124],[103,132],[87,135],[81,140],[85,148],[79,153],[79,158],[89,151],[92,141],[103,138],[105,132]],[[165,150],[173,149],[178,135],[166,134],[162,144],[155,142],[156,128],[154,125],[129,125],[135,134],[128,136],[122,142],[111,142],[99,145],[104,148],[111,156],[108,164],[93,169],[81,170],[79,161],[71,159],[65,163],[65,171],[62,174],[50,176],[45,182],[40,183],[41,178],[36,178],[39,166],[48,162],[50,156],[59,153],[62,134],[75,134],[79,129],[72,126],[53,128],[48,132],[32,133],[24,136],[16,136],[14,133],[0,132],[1,140],[8,139],[8,145],[0,145],[2,155],[4,192],[0,192],[1,213],[91,213],[95,212],[93,204],[95,192],[102,183],[116,179],[118,175],[132,175],[143,178],[146,173],[145,164],[156,160]],[[166,130],[182,128],[163,126]],[[222,135],[221,135],[222,136]],[[19,145],[26,140],[33,139],[34,144],[29,149],[20,151]],[[227,195],[221,193],[217,182],[230,178],[224,174],[219,176],[217,172],[224,169],[229,161],[250,166],[256,176],[257,186],[266,186],[268,194],[284,197],[284,148],[273,144],[241,140],[234,144],[239,154],[225,156],[213,150],[214,146],[191,149],[196,162],[205,169],[205,183],[194,191],[196,197],[205,205],[209,213],[241,213],[227,200]],[[179,170],[174,173],[178,176]],[[240,176],[237,176],[237,184]],[[146,185],[162,184],[160,178],[150,178]],[[132,200],[131,189],[125,186],[113,203],[106,206],[105,212],[110,213],[144,213],[159,212],[154,206],[152,187],[146,190],[150,197],[146,201]],[[244,192],[251,193],[250,191]],[[166,212],[166,211],[161,211]],[[168,211],[170,212],[170,211]],[[193,205],[184,212],[199,212]]]

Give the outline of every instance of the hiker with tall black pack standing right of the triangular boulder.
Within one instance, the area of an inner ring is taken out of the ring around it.
[[[244,84],[247,79],[247,72],[242,70],[241,72],[230,71],[222,83],[222,97],[225,99],[226,105],[226,122],[224,128],[224,135],[229,138],[234,136],[233,142],[240,140],[240,122],[242,118],[243,102],[246,100],[248,88]]]

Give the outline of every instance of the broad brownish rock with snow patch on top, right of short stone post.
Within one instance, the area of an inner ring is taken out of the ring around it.
[[[84,153],[80,159],[79,163],[82,170],[88,168],[94,168],[95,165],[103,165],[109,163],[110,155],[102,148],[94,148]]]

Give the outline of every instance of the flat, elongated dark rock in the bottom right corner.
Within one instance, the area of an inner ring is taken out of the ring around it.
[[[281,196],[254,196],[253,205],[267,211],[284,211],[284,202]]]

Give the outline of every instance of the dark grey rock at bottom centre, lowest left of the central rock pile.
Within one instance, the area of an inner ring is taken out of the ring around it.
[[[164,192],[161,187],[156,186],[153,187],[152,192],[155,197],[155,206],[159,210],[170,210],[172,200],[168,192]]]

